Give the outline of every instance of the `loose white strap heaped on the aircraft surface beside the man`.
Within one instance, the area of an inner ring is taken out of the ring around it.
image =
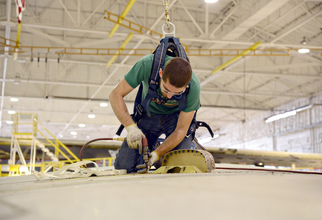
[[[81,168],[80,166],[85,164],[93,163],[95,165],[94,168]],[[41,179],[59,179],[59,178],[78,178],[78,177],[90,177],[91,175],[96,176],[108,176],[108,175],[120,175],[126,174],[126,170],[102,170],[99,168],[97,163],[90,160],[82,160],[73,164],[69,164],[60,170],[54,172],[53,174],[49,173],[40,173],[36,170],[31,171],[33,176],[37,180]]]

